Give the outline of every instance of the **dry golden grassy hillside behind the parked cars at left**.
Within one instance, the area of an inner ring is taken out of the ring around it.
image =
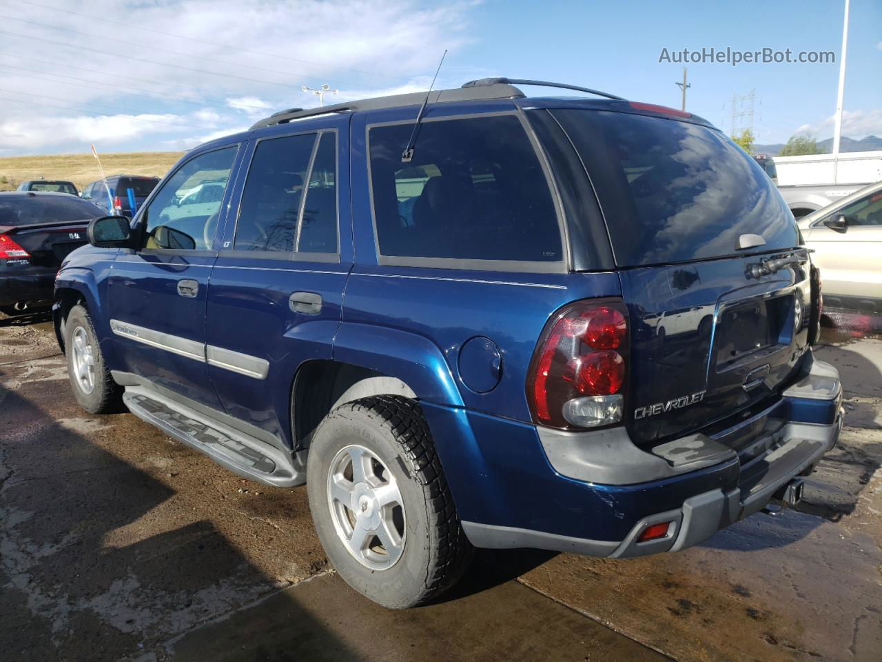
[[[111,175],[154,175],[162,177],[183,152],[130,152],[101,154],[101,165]],[[0,191],[14,191],[28,179],[66,179],[82,190],[101,177],[92,154],[0,157]]]

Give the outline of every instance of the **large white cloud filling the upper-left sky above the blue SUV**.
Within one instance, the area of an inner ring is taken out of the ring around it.
[[[96,140],[191,145],[274,110],[318,105],[301,85],[339,88],[326,102],[425,89],[444,49],[470,42],[474,6],[97,0],[61,15],[28,5],[22,18],[46,26],[9,20],[4,28],[17,35],[4,35],[0,49],[0,95],[17,102],[0,100],[0,151],[87,149]]]

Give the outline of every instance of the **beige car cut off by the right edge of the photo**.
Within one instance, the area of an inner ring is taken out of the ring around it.
[[[826,305],[882,312],[882,182],[799,221],[824,275]]]

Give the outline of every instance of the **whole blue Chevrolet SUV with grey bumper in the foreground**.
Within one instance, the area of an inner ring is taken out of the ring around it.
[[[333,565],[390,607],[473,547],[669,552],[795,503],[841,385],[781,196],[700,117],[536,82],[192,150],[64,261],[78,402],[307,484]]]

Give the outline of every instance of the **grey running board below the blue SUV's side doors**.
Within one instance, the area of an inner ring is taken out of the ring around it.
[[[146,387],[125,387],[123,402],[141,420],[243,478],[276,487],[306,484],[305,452],[292,457]]]

